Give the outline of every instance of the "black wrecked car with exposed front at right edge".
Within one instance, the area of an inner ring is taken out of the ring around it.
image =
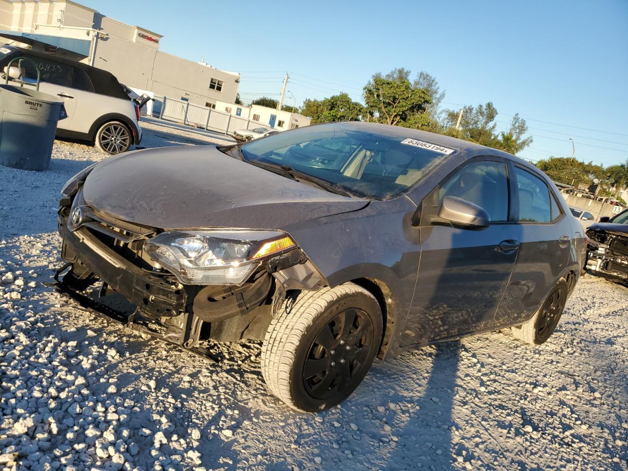
[[[587,269],[612,281],[628,284],[628,209],[587,230]]]

